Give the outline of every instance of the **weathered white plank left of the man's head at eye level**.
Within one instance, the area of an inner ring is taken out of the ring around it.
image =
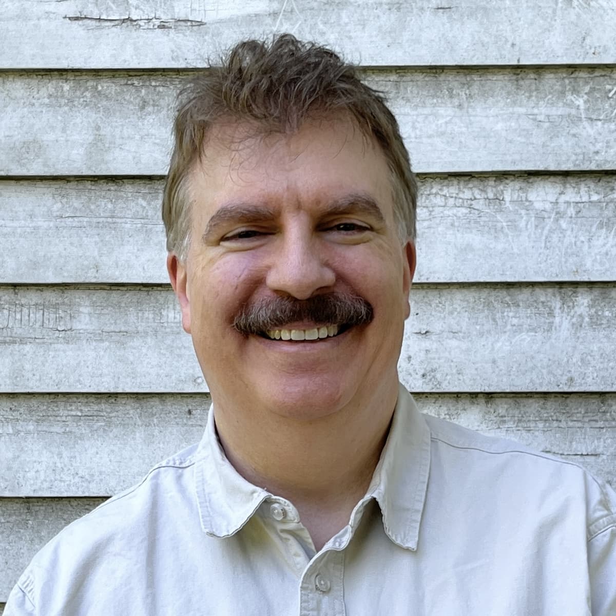
[[[167,283],[163,180],[0,180],[2,283]]]

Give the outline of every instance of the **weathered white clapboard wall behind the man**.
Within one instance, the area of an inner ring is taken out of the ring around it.
[[[400,373],[420,407],[616,486],[612,2],[8,0],[0,613],[45,541],[201,436],[159,219],[174,96],[274,31],[362,63],[399,117],[421,188]]]

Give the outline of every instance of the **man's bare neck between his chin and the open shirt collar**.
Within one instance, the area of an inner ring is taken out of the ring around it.
[[[291,501],[320,546],[349,521],[367,491],[387,439],[397,379],[318,419],[214,397],[225,455],[254,485]]]

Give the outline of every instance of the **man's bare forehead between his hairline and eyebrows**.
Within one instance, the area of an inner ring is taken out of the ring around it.
[[[391,174],[381,148],[346,115],[310,119],[292,134],[246,123],[214,126],[190,174],[193,213],[229,201],[310,205],[365,193],[391,208]],[[387,217],[387,215],[386,215]]]

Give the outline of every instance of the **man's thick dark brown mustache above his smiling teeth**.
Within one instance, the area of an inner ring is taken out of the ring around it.
[[[308,299],[269,298],[245,304],[233,320],[241,334],[280,330],[287,323],[311,321],[316,325],[365,325],[373,319],[370,302],[351,293],[327,293]]]

